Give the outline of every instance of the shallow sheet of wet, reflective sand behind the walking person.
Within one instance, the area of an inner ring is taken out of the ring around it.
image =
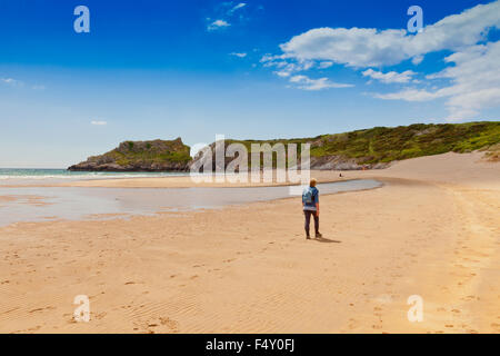
[[[380,187],[372,179],[321,184],[322,195]],[[301,194],[300,186],[293,187]],[[0,227],[20,221],[83,220],[160,211],[217,209],[292,197],[289,187],[101,188],[0,187]],[[294,197],[294,196],[293,196]],[[3,201],[3,204],[2,204]],[[43,207],[41,209],[40,207]]]

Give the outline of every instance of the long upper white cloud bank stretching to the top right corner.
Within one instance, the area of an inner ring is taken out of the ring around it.
[[[426,53],[476,44],[491,28],[500,28],[500,1],[446,17],[417,34],[402,29],[318,28],[280,47],[287,58],[329,60],[356,68],[392,66],[411,58],[419,63]]]

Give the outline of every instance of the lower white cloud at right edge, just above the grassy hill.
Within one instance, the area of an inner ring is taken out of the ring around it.
[[[450,85],[429,91],[404,89],[399,92],[374,95],[380,99],[427,101],[448,98],[448,120],[477,118],[486,108],[500,105],[500,41],[472,46],[444,59],[453,62],[438,73],[427,76],[429,80],[446,79]]]

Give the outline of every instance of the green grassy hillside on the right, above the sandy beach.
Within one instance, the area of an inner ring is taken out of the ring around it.
[[[468,122],[444,125],[411,125],[396,128],[376,127],[316,138],[286,140],[227,140],[251,144],[311,144],[311,157],[339,156],[354,159],[359,165],[390,162],[444,152],[470,152],[500,142],[500,122]]]

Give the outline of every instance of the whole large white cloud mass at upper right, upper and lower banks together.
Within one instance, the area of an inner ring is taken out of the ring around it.
[[[373,93],[377,98],[406,101],[444,98],[448,120],[480,118],[481,110],[500,106],[500,41],[487,42],[492,29],[500,29],[500,0],[448,16],[417,34],[403,29],[311,29],[281,44],[281,55],[262,58],[262,62],[288,72],[301,70],[303,62],[319,62],[314,65],[318,68],[322,62],[362,68],[362,76],[373,80],[411,83],[397,92]],[[413,78],[416,73],[411,70],[383,72],[370,68],[407,60],[418,66],[427,53],[442,50],[452,52],[444,59],[450,66],[427,76],[428,80],[439,81],[426,87],[418,86],[421,81]]]

